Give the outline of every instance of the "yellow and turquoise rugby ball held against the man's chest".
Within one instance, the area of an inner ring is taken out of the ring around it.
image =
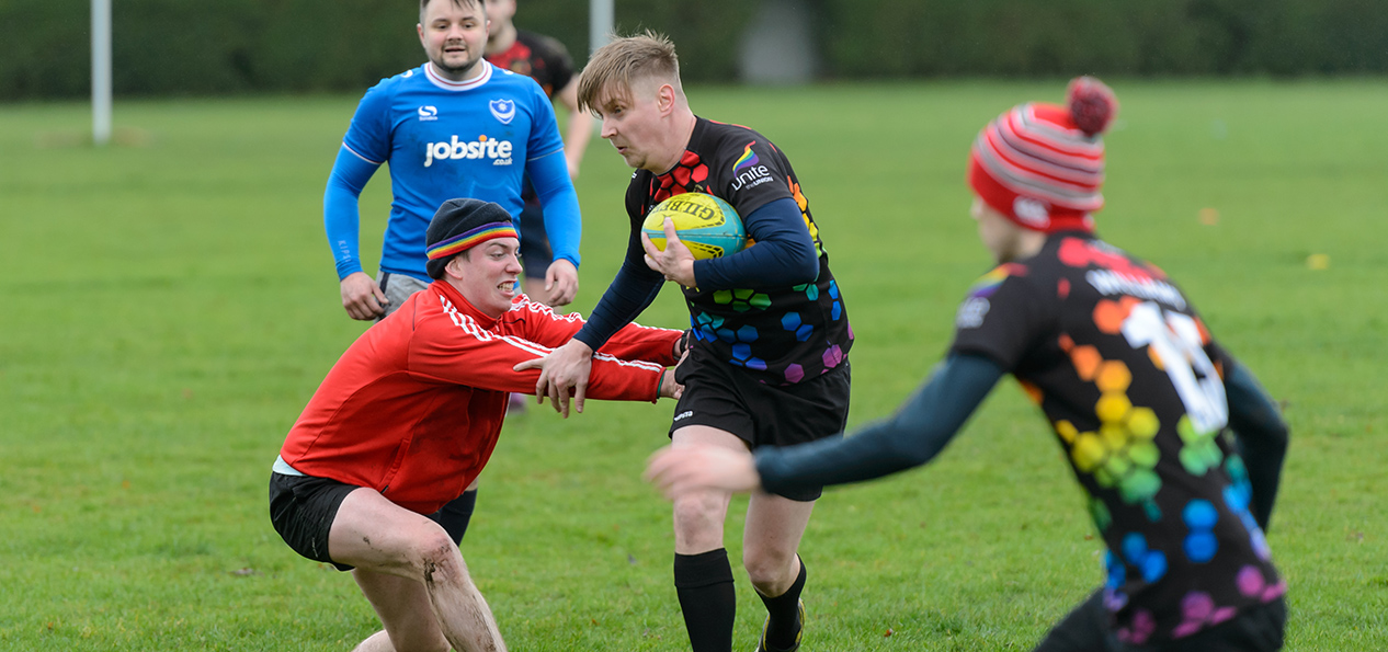
[[[704,193],[676,194],[645,215],[641,230],[655,248],[665,251],[665,218],[695,259],[722,258],[747,247],[743,218],[726,201]]]

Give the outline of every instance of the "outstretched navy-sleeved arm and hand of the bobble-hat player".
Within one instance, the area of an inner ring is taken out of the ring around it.
[[[988,358],[954,355],[891,419],[847,438],[748,452],[711,447],[665,448],[647,479],[666,495],[722,490],[769,492],[844,484],[920,466],[944,449],[1004,375]]]

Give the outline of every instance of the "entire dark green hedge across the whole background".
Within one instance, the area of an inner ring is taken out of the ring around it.
[[[618,31],[733,80],[761,0],[618,0]],[[1382,0],[799,0],[831,78],[1388,72]],[[114,0],[117,93],[361,90],[422,61],[414,0]],[[85,96],[87,0],[0,1],[0,100]],[[520,0],[516,22],[582,61],[587,1]]]

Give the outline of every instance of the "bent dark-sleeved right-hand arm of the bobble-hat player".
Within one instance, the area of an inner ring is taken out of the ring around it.
[[[1287,458],[1287,422],[1253,373],[1241,363],[1230,365],[1224,376],[1224,395],[1228,400],[1228,426],[1234,430],[1253,491],[1249,508],[1259,527],[1267,530]]]

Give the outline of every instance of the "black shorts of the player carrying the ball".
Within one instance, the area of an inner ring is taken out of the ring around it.
[[[684,394],[675,405],[670,434],[684,426],[709,426],[736,434],[755,451],[837,437],[848,424],[848,361],[816,379],[788,386],[762,383],[726,362],[690,351],[675,372]],[[783,494],[809,502],[823,487]]]

